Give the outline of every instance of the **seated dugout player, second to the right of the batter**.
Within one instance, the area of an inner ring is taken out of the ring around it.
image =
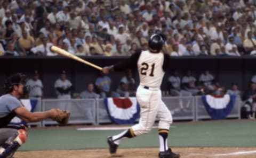
[[[181,83],[184,89],[191,94],[196,95],[199,92],[196,86],[196,78],[194,76],[191,76],[190,71],[188,71],[186,75],[183,76]]]

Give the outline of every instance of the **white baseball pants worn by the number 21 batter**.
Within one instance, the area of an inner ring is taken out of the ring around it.
[[[162,101],[162,93],[159,89],[145,89],[139,86],[137,89],[137,100],[140,104],[139,124],[132,126],[136,136],[148,133],[155,122],[159,120],[159,129],[169,129],[172,124],[172,115],[165,103]]]

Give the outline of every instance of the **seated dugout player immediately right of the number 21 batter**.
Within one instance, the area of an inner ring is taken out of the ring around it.
[[[178,72],[174,71],[173,75],[168,78],[168,86],[170,95],[172,96],[190,96],[191,93],[185,90],[181,90],[180,77]]]

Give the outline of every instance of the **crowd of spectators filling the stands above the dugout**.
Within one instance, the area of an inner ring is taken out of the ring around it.
[[[1,0],[0,56],[130,56],[153,33],[170,56],[256,55],[253,0]]]

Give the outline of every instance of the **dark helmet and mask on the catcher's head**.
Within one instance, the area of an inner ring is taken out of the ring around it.
[[[4,89],[6,93],[11,93],[13,91],[14,85],[23,84],[23,95],[26,95],[28,93],[28,87],[26,86],[26,83],[28,81],[28,77],[24,74],[18,73],[11,75],[5,80]]]

